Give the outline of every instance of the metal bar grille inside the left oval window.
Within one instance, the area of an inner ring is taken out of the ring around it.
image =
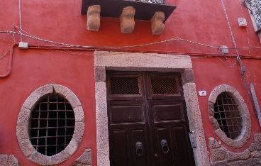
[[[56,155],[70,143],[74,133],[74,111],[58,94],[44,96],[30,116],[30,141],[43,155]]]

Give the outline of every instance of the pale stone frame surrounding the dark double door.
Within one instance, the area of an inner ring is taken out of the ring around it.
[[[189,129],[195,131],[197,148],[194,148],[196,165],[210,165],[206,148],[203,122],[194,83],[191,57],[140,52],[94,52],[96,99],[97,165],[110,165],[109,131],[106,100],[106,70],[181,72],[182,88],[187,106]]]

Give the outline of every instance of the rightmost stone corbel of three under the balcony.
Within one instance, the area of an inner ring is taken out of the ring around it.
[[[154,16],[150,19],[151,31],[153,35],[160,35],[165,28],[163,21],[165,20],[165,13],[156,11]]]

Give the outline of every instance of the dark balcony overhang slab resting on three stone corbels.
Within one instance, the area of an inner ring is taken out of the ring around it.
[[[123,12],[123,8],[133,6],[135,9],[135,20],[147,20],[154,16],[156,11],[165,13],[165,22],[170,14],[176,9],[176,6],[167,4],[148,3],[143,1],[130,0],[82,0],[81,14],[86,15],[89,6],[100,5],[102,17],[119,18]]]

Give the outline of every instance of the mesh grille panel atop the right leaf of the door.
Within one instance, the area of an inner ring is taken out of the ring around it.
[[[177,77],[150,77],[152,94],[179,94]]]

